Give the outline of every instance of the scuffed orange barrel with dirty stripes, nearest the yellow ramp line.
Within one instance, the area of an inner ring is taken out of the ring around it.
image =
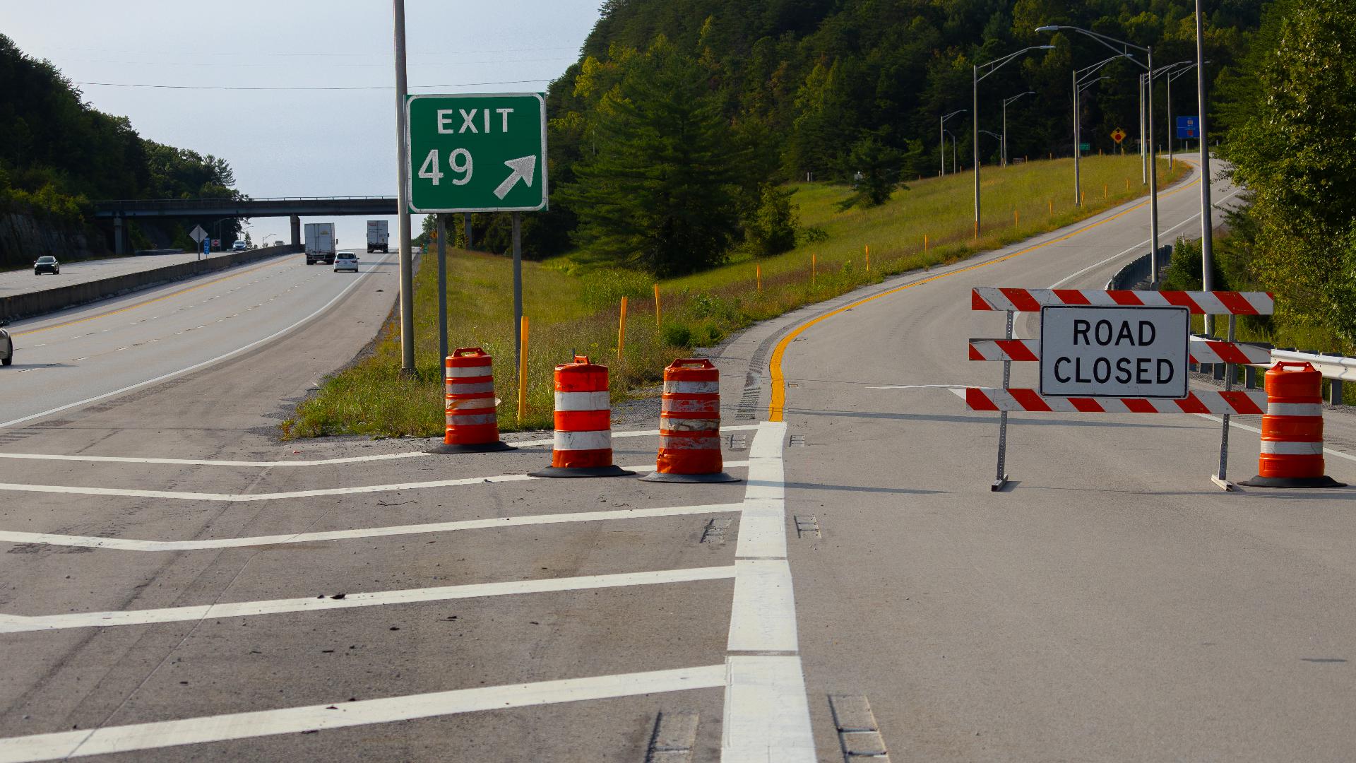
[[[678,358],[664,369],[659,458],[645,482],[738,482],[721,471],[720,371],[705,358]]]

